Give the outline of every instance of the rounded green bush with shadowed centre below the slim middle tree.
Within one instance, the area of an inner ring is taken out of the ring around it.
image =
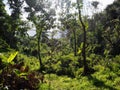
[[[74,77],[75,76],[74,73],[78,65],[77,59],[78,57],[74,57],[73,53],[61,56],[55,66],[56,73],[58,75],[68,75]]]

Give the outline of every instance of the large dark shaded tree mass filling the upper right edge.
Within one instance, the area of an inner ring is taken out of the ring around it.
[[[92,3],[96,7],[97,3]],[[100,13],[93,15],[89,19],[89,31],[92,32],[94,38],[91,38],[94,46],[94,53],[103,55],[106,50],[110,55],[119,55],[120,37],[119,37],[119,1],[114,1]]]

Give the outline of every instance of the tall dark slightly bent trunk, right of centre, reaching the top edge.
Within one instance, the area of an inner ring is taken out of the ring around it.
[[[78,6],[78,13],[79,13],[79,21],[82,25],[82,29],[83,29],[83,48],[82,48],[82,56],[83,56],[83,64],[84,64],[84,71],[83,74],[87,75],[88,72],[88,66],[87,66],[87,62],[86,62],[86,28],[85,28],[85,24],[83,23],[82,17],[81,17],[81,11],[80,11],[80,5],[79,5],[79,0],[77,0],[77,6]]]

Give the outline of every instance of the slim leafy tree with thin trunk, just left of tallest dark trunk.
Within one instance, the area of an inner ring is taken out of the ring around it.
[[[69,14],[65,18],[61,18],[61,23],[64,26],[64,29],[67,31],[66,36],[70,41],[70,45],[73,47],[74,56],[77,56],[77,28],[78,23],[76,16]]]

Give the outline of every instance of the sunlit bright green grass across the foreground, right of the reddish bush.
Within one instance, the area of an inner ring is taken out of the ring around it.
[[[119,75],[101,65],[94,68],[94,74],[79,78],[46,74],[39,90],[120,90]]]

